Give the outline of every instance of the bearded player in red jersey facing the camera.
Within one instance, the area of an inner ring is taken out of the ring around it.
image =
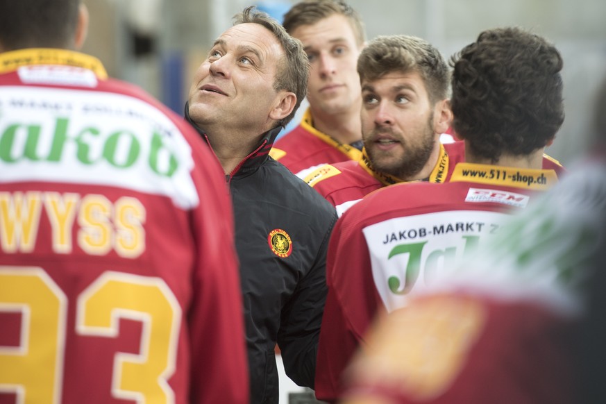
[[[444,183],[465,159],[464,142],[440,142],[452,112],[448,67],[435,47],[418,37],[379,36],[362,50],[357,71],[362,85],[362,156],[324,165],[305,177],[339,216],[386,185]],[[543,168],[564,171],[548,155]]]

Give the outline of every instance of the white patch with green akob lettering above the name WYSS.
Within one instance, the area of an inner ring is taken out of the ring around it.
[[[185,209],[199,205],[192,148],[153,104],[83,89],[1,88],[0,182],[62,178],[168,196]]]

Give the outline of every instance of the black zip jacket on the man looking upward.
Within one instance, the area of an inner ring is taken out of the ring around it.
[[[192,123],[187,107],[185,111]],[[208,142],[203,131],[196,129]],[[276,342],[289,378],[301,386],[314,386],[326,301],[326,251],[337,221],[328,201],[267,154],[280,129],[265,133],[257,152],[228,177],[244,298],[251,403],[278,403]],[[288,256],[272,251],[269,235],[273,230],[290,237]]]

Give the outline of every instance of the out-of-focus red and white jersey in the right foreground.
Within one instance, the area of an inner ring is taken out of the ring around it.
[[[602,402],[601,373],[593,375],[604,353],[605,193],[601,155],[507,219],[460,267],[371,328],[346,396],[394,404]]]

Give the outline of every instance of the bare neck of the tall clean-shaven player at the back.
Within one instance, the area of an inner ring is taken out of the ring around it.
[[[312,110],[312,119],[314,128],[341,143],[351,144],[362,140],[360,110],[339,114],[326,114],[322,111]]]

